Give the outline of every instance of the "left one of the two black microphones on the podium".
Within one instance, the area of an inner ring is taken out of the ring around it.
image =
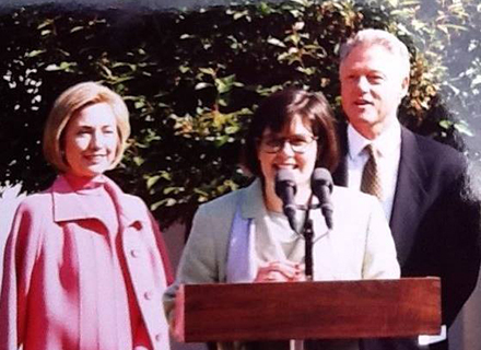
[[[281,168],[275,174],[275,195],[282,199],[282,210],[288,217],[289,224],[294,232],[297,232],[295,224],[294,196],[297,191],[295,176],[290,170]]]

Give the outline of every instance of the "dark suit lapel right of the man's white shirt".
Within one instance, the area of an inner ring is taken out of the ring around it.
[[[415,232],[421,220],[421,207],[426,196],[423,186],[426,175],[427,170],[423,163],[422,151],[418,147],[415,135],[402,128],[401,159],[389,223],[401,267],[414,244]]]

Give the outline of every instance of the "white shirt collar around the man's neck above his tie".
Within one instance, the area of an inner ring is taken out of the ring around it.
[[[348,126],[349,156],[351,160],[360,155],[367,144],[373,144],[380,156],[388,156],[401,147],[401,125],[396,118],[390,126],[374,140],[366,139],[351,124]]]

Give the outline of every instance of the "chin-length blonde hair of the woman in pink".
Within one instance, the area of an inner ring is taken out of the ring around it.
[[[115,159],[109,168],[114,168],[121,160],[130,136],[129,110],[124,100],[110,89],[95,82],[75,84],[57,97],[48,115],[44,129],[44,156],[60,173],[70,166],[63,155],[63,133],[68,122],[87,106],[106,103],[114,112],[117,121],[118,144]]]

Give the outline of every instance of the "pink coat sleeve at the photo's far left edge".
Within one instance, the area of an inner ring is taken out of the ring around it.
[[[7,241],[0,295],[0,350],[17,349],[24,340],[32,275],[38,256],[42,214],[21,203]]]

